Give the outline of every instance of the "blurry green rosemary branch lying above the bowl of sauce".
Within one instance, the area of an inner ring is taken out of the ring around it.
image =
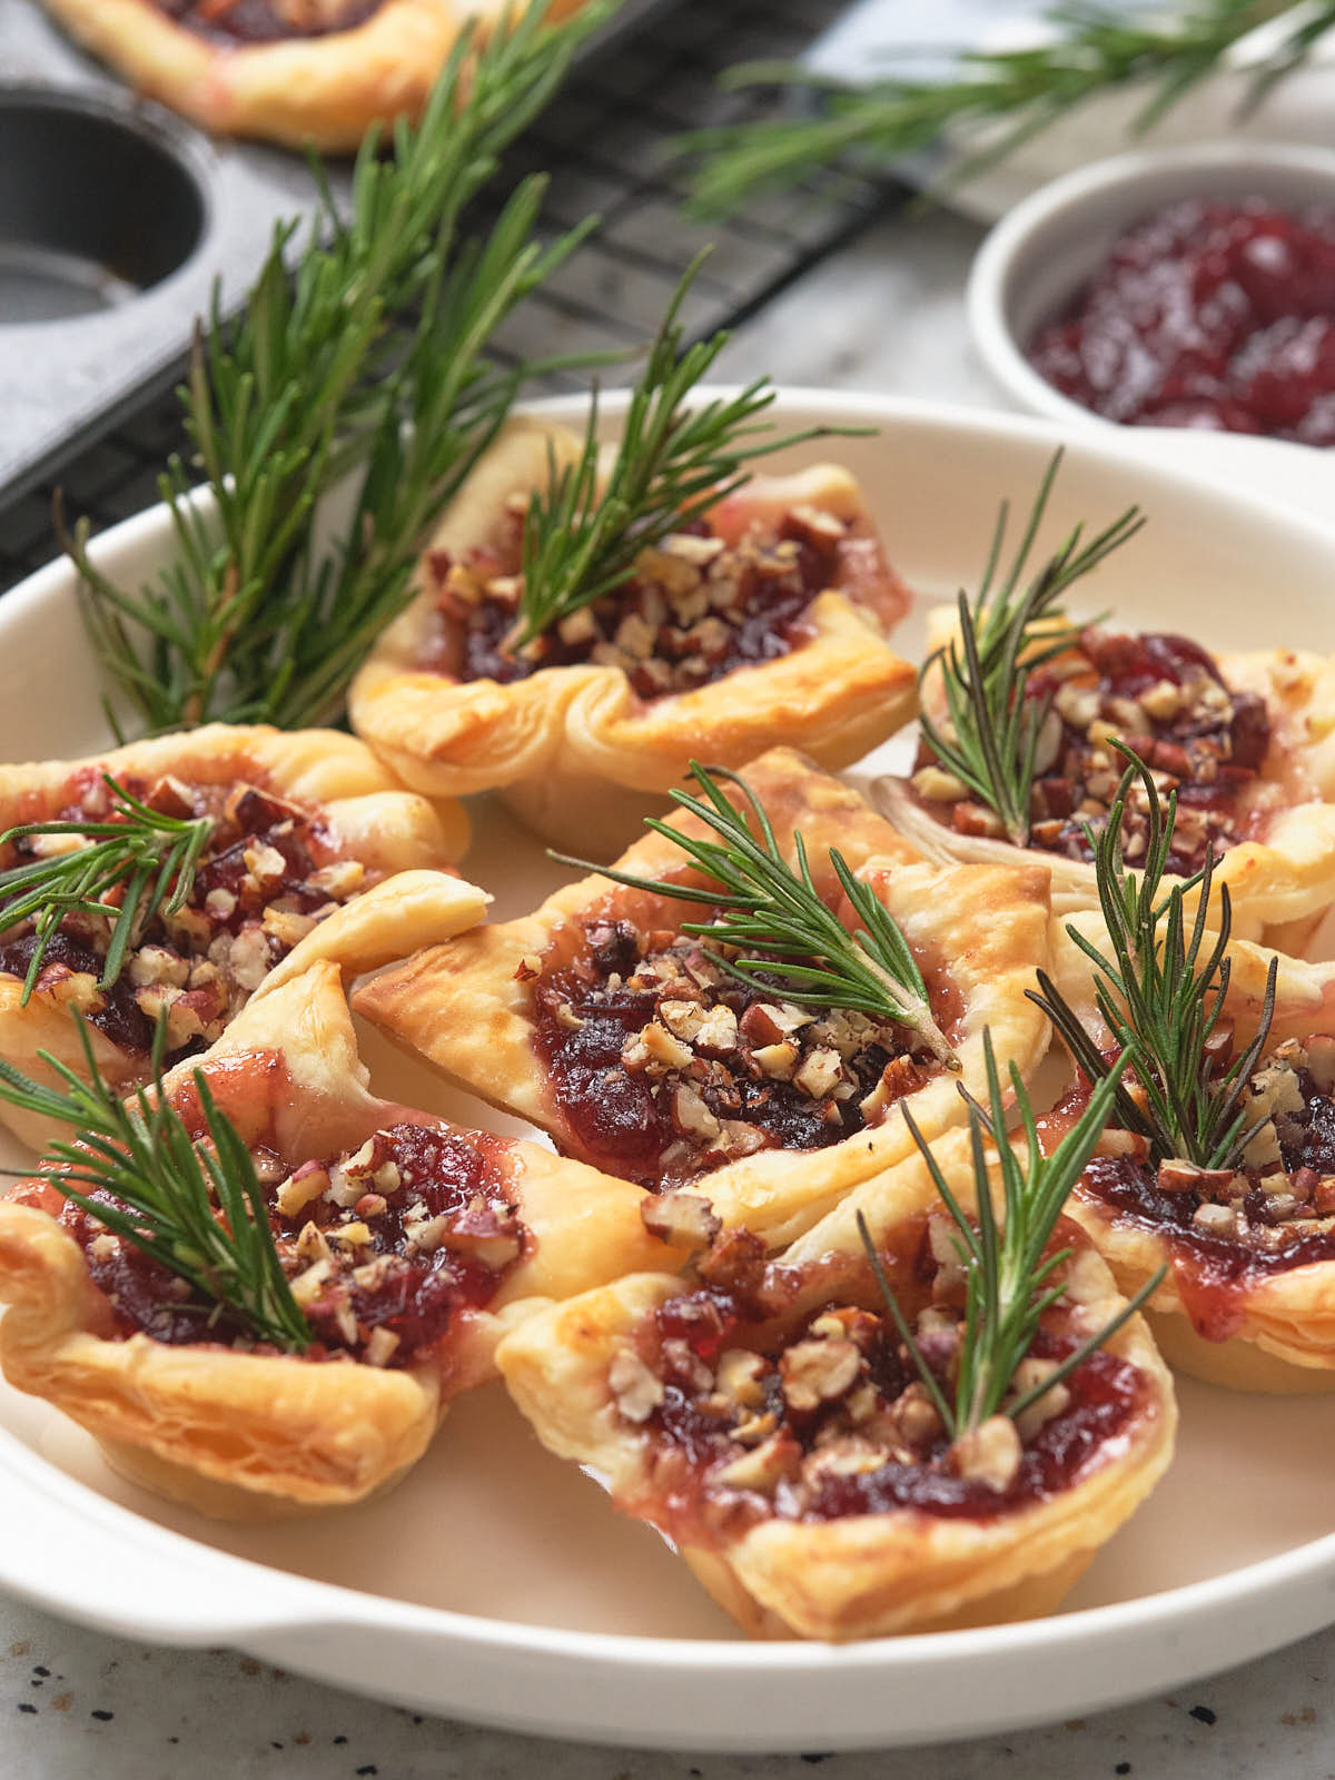
[[[1145,105],[1130,134],[1148,130],[1187,91],[1212,75],[1228,50],[1267,20],[1285,18],[1278,39],[1251,71],[1248,105],[1301,66],[1315,39],[1335,27],[1335,0],[1185,0],[1171,16],[1143,20],[1096,0],[1070,0],[1047,12],[1052,41],[1027,50],[972,50],[945,82],[892,77],[849,91],[792,64],[748,62],[730,69],[732,87],[790,85],[819,91],[810,116],[783,116],[698,130],[682,142],[700,155],[692,208],[737,210],[756,192],[792,187],[853,153],[890,162],[938,142],[961,126],[991,125],[997,135],[956,166],[959,187],[1040,135],[1095,94],[1143,84]]]

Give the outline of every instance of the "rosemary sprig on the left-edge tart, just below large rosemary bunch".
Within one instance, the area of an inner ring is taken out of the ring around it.
[[[23,983],[23,1006],[68,915],[107,922],[110,938],[98,988],[110,988],[153,915],[174,915],[185,902],[214,833],[212,815],[164,815],[132,797],[110,773],[101,778],[112,794],[105,822],[25,822],[0,835],[0,849],[34,837],[75,842],[68,851],[0,872],[0,931],[30,920],[37,942]]]

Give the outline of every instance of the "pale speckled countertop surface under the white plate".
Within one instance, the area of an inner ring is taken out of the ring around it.
[[[890,217],[742,328],[724,377],[993,404],[961,288],[977,246],[949,214]],[[7,1529],[5,1538],[21,1536]],[[14,1780],[1330,1780],[1335,1629],[1168,1698],[927,1750],[801,1757],[634,1753],[422,1718],[224,1650],[160,1650],[0,1595],[0,1773]]]

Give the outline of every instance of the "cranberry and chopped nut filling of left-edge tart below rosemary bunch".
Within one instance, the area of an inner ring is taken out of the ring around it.
[[[146,1052],[158,1009],[167,1009],[167,1056],[210,1045],[272,967],[363,886],[363,867],[335,854],[317,810],[255,785],[155,783],[125,789],[166,815],[212,815],[185,904],[144,924],[117,981],[98,990],[109,926],[69,915],[46,949],[37,988],[71,1002],[123,1050]],[[44,819],[44,817],[43,817]],[[114,821],[110,794],[82,774],[53,821]],[[44,837],[20,840],[7,865],[37,854]],[[0,890],[0,895],[4,892]],[[30,924],[0,934],[0,972],[25,977],[36,947]]]

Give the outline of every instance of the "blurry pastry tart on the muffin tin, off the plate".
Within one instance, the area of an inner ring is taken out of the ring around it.
[[[470,16],[498,0],[44,0],[66,30],[217,135],[352,150],[417,119]],[[559,18],[580,0],[548,12]]]

